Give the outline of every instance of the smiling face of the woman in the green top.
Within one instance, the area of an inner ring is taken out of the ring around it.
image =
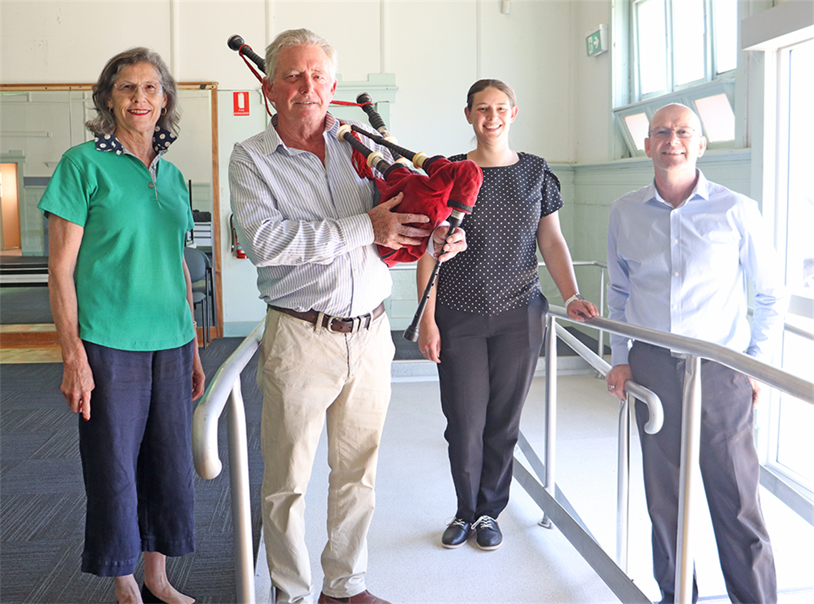
[[[147,92],[154,92],[150,95]],[[149,135],[166,106],[167,97],[161,89],[160,76],[150,63],[125,65],[116,77],[107,106],[116,118],[116,137]]]

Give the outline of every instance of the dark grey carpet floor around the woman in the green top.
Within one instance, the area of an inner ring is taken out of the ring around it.
[[[207,376],[240,338],[216,340],[202,350]],[[255,551],[260,537],[260,393],[256,362],[243,376],[247,407]],[[115,602],[113,581],[80,571],[85,531],[85,490],[77,415],[59,393],[59,363],[0,365],[0,601],[9,604]],[[201,604],[234,602],[229,470],[225,420],[221,422],[224,471],[195,480],[196,551],[168,559],[168,574]],[[136,569],[142,578],[142,563]]]

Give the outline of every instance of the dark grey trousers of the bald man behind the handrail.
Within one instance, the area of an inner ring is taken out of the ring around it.
[[[673,602],[685,360],[635,342],[628,362],[633,380],[657,393],[664,406],[664,426],[657,434],[644,432],[648,413],[641,402],[636,418],[653,523],[653,572],[661,602]],[[777,602],[772,545],[760,511],[751,385],[742,373],[702,361],[701,393],[701,476],[729,598],[736,604]],[[697,599],[693,577],[693,602]]]

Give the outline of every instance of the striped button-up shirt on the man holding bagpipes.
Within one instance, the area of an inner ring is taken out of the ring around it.
[[[324,165],[287,147],[276,124],[275,116],[265,132],[236,144],[229,164],[232,212],[260,298],[343,317],[373,311],[392,288],[367,215],[379,202],[375,185],[357,175],[330,114]]]

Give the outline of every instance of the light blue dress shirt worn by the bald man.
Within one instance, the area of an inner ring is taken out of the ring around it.
[[[727,346],[770,361],[788,298],[772,229],[757,202],[707,180],[680,206],[655,183],[610,206],[610,319]],[[746,315],[746,280],[755,315]],[[611,363],[628,363],[630,341],[611,335]]]

